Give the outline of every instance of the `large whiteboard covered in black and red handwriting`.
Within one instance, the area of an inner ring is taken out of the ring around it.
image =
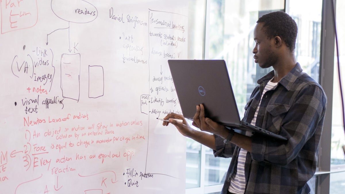
[[[0,2],[0,193],[185,193],[188,1]]]

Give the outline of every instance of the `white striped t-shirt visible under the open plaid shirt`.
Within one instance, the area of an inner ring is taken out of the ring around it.
[[[264,88],[259,104],[256,107],[254,117],[252,121],[250,122],[250,124],[252,125],[255,125],[256,123],[256,117],[259,112],[259,107],[261,104],[262,97],[264,96],[266,91],[272,89],[274,86],[278,84],[278,83],[273,83],[272,79],[267,83],[267,85]],[[234,172],[231,176],[230,185],[228,188],[228,191],[231,193],[244,194],[244,192],[246,191],[246,177],[245,177],[245,170],[244,170],[244,165],[246,164],[246,155],[247,155],[247,151],[245,149],[240,148],[239,153],[238,153],[238,158],[237,158],[237,167],[234,169]]]

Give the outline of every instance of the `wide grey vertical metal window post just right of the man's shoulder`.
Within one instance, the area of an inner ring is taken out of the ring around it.
[[[335,1],[334,1],[335,2]],[[333,24],[332,3],[330,0],[322,1],[321,20],[321,48],[319,83],[327,96],[327,108],[323,132],[320,142],[319,163],[320,171],[331,169],[331,139],[332,139],[332,107],[333,107],[333,74],[334,74],[334,46],[335,30]],[[319,175],[317,193],[329,193],[330,174]]]

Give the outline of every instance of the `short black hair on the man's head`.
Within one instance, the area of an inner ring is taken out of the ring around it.
[[[297,24],[291,16],[283,11],[267,13],[256,23],[264,23],[263,28],[268,38],[279,36],[291,51],[295,50]]]

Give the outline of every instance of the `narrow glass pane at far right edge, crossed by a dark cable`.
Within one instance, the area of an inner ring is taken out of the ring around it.
[[[337,1],[336,3],[336,18],[337,18],[337,37],[339,47],[340,64],[344,64],[345,56],[345,2]],[[331,165],[345,164],[345,157],[342,146],[345,145],[345,135],[342,117],[342,103],[340,96],[337,56],[335,50],[334,59],[334,81],[333,81],[333,109],[332,109],[332,140],[331,140]],[[343,66],[344,67],[344,66]],[[345,68],[341,68],[342,88],[344,87]]]

